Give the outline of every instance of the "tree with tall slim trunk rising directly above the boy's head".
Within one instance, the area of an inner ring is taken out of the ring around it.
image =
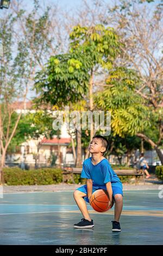
[[[111,27],[104,27],[101,24],[91,27],[80,25],[73,28],[70,34],[71,49],[73,52],[80,52],[90,59],[89,66],[89,110],[93,111],[93,85],[95,76],[107,72],[112,68],[115,58],[120,54],[120,42],[118,35]],[[90,140],[94,135],[93,120],[91,121]],[[86,153],[86,158],[89,151]]]

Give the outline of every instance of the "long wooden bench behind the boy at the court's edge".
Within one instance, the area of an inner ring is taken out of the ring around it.
[[[143,184],[145,184],[145,176],[142,173],[142,171],[140,170],[136,170],[136,169],[115,169],[114,170],[115,173],[119,176],[135,176],[135,185],[137,184],[137,178],[138,177],[142,177],[143,180]],[[74,182],[74,178],[73,178],[73,174],[81,174],[82,172],[82,168],[75,168],[75,167],[65,167],[62,168],[62,174],[63,174],[63,182],[64,182],[64,175],[70,174],[71,178],[72,178],[72,182],[75,184]]]

